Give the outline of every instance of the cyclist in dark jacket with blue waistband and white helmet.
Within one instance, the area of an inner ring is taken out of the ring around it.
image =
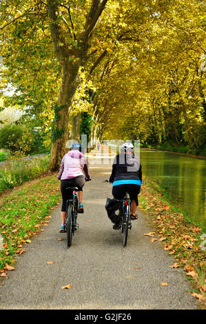
[[[141,191],[142,170],[140,159],[133,151],[132,143],[122,145],[121,153],[114,158],[110,182],[115,199],[123,199],[126,192],[130,194],[131,219],[135,220],[137,219],[138,194]],[[119,229],[119,224],[115,223],[113,228]]]

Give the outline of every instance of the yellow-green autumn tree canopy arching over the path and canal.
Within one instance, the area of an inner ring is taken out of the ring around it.
[[[6,104],[52,139],[53,169],[83,112],[93,142],[203,150],[204,1],[14,0],[0,10],[1,94],[12,85]]]

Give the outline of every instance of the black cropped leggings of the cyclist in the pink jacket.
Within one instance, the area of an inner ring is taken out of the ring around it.
[[[85,184],[84,176],[76,176],[76,178],[61,180],[61,196],[62,196],[62,205],[61,211],[65,212],[66,210],[66,201],[68,199],[68,195],[66,192],[66,188],[68,187],[77,187],[78,191],[83,191],[83,185]]]

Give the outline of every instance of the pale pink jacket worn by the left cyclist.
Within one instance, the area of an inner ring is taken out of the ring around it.
[[[82,176],[83,172],[87,179],[91,179],[87,159],[83,153],[71,150],[63,156],[57,178],[59,180],[72,179]]]

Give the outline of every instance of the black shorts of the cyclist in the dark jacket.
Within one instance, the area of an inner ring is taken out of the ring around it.
[[[136,201],[136,205],[138,206],[138,194],[141,191],[141,185],[134,184],[125,184],[125,185],[114,185],[112,187],[112,194],[115,199],[123,199],[125,193],[128,192],[130,195],[131,201]]]

